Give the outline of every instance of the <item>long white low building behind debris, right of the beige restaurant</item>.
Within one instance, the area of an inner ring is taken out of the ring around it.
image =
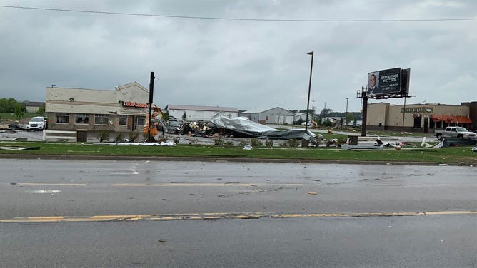
[[[209,121],[220,112],[223,112],[228,118],[239,116],[239,109],[232,107],[169,104],[164,110],[169,112],[169,116],[187,121]]]

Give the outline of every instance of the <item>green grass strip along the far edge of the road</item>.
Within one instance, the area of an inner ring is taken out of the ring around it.
[[[260,158],[298,160],[360,160],[430,163],[477,163],[477,153],[471,147],[435,148],[418,150],[341,150],[337,148],[224,148],[214,145],[134,146],[94,145],[92,143],[38,143],[0,142],[0,146],[39,146],[39,150],[0,150],[0,154],[20,155],[121,155],[168,156],[205,158]]]

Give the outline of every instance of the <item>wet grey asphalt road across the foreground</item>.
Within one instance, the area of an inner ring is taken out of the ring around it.
[[[2,159],[0,170],[0,219],[19,220],[0,222],[5,267],[477,265],[472,167]],[[177,213],[259,217],[151,220]],[[91,217],[106,220],[81,222]]]

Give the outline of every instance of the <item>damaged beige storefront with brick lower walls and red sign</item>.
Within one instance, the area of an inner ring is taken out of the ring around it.
[[[48,87],[45,110],[51,130],[142,131],[148,100],[136,82],[114,91]]]

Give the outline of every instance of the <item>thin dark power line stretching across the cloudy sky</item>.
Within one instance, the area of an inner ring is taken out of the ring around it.
[[[176,15],[161,15],[161,14],[141,14],[141,13],[126,13],[126,12],[111,12],[111,11],[91,11],[79,9],[51,9],[44,7],[31,6],[5,6],[0,5],[1,8],[9,9],[30,9],[39,11],[59,11],[59,12],[75,12],[75,13],[89,13],[89,14],[106,14],[119,16],[149,16],[160,18],[173,19],[209,19],[216,21],[280,21],[280,22],[403,22],[403,21],[476,21],[477,18],[457,18],[457,19],[245,19],[245,18],[225,18],[225,17],[208,17],[208,16],[176,16]]]

